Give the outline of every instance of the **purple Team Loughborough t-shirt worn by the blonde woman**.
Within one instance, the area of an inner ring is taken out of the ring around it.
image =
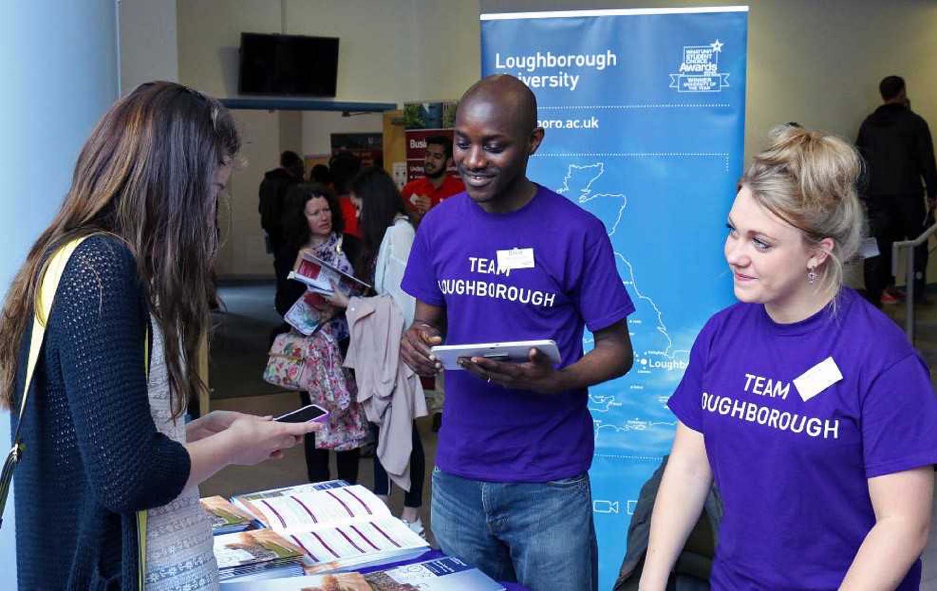
[[[722,310],[668,404],[705,437],[722,495],[713,589],[837,588],[875,525],[867,479],[937,463],[927,366],[849,288],[836,316],[793,324]]]

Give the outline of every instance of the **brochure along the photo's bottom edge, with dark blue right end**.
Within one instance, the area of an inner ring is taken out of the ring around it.
[[[504,586],[462,560],[444,556],[364,575],[347,572],[225,583],[221,591],[504,591]]]

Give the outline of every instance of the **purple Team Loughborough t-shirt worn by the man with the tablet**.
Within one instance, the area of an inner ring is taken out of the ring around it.
[[[532,267],[498,269],[498,251],[514,248],[532,250]],[[584,324],[600,331],[634,311],[602,222],[543,186],[510,214],[488,214],[465,193],[430,210],[402,286],[446,308],[447,344],[553,339],[561,367],[583,356]],[[559,480],[585,472],[593,447],[585,389],[539,394],[446,372],[439,469],[472,480]]]

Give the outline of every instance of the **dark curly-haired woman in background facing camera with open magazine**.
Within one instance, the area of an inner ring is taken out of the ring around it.
[[[276,309],[288,324],[296,325],[294,332],[309,332],[305,350],[320,360],[312,364],[315,375],[310,380],[310,389],[300,392],[304,405],[317,404],[329,411],[328,428],[315,437],[305,437],[309,481],[330,479],[329,450],[334,450],[338,478],[355,484],[361,446],[368,433],[364,412],[355,396],[354,378],[350,370],[342,367],[348,347],[348,322],[320,294],[289,278],[301,252],[343,273],[353,274],[349,255],[356,255],[358,241],[343,234],[343,228],[341,211],[331,190],[311,183],[290,187],[283,214],[286,244],[275,259]]]

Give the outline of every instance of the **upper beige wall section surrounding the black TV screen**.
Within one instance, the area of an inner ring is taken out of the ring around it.
[[[177,7],[179,77],[214,96],[237,96],[244,31],[339,37],[337,100],[457,96],[478,76],[477,0],[178,0]]]

